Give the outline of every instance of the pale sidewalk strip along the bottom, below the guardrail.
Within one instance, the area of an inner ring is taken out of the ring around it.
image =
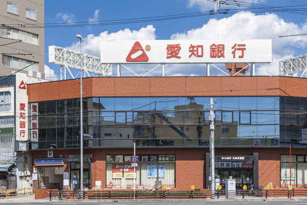
[[[84,202],[84,203],[91,203],[91,202],[167,202],[167,201],[307,201],[307,197],[292,197],[291,199],[288,199],[288,197],[254,197],[254,196],[245,196],[245,199],[242,197],[236,197],[235,199],[226,199],[225,196],[220,197],[220,199],[91,199],[91,200],[61,200],[61,202]],[[30,196],[20,196],[20,197],[11,197],[11,198],[0,198],[0,204],[5,203],[18,203],[18,202],[38,202],[38,203],[48,203],[49,198],[44,199],[34,199],[34,195]],[[51,202],[59,202],[58,199],[52,199]]]

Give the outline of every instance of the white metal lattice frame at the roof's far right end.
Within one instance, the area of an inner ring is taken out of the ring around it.
[[[279,75],[293,76],[295,73],[300,73],[300,77],[305,74],[307,78],[307,54],[279,61]]]

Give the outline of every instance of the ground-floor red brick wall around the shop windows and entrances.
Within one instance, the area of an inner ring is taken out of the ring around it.
[[[176,155],[176,188],[206,189],[206,153],[209,148],[139,148],[136,154],[175,154]],[[290,154],[289,148],[215,148],[215,155],[244,156],[259,154],[259,186],[267,186],[269,182],[273,187],[280,187],[280,154]],[[54,150],[54,156],[69,158],[70,154],[80,154],[80,150]],[[92,186],[95,181],[101,181],[102,188],[105,188],[105,156],[109,154],[134,154],[130,149],[84,149],[84,154],[92,154]],[[307,155],[306,149],[293,148],[292,154]],[[45,157],[47,151],[34,151],[34,159]],[[69,163],[65,163],[64,171],[69,171]]]

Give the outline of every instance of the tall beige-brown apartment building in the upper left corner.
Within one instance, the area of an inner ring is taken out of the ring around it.
[[[20,72],[31,71],[30,76],[45,78],[44,1],[1,2],[0,74],[10,75],[29,66]]]

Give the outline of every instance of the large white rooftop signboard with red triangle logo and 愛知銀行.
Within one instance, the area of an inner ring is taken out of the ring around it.
[[[101,42],[103,64],[271,63],[272,40],[112,40]]]

